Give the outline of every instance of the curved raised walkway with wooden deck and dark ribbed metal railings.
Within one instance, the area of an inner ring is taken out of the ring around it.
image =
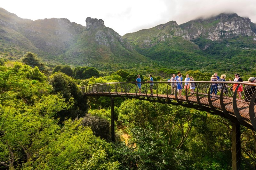
[[[223,86],[221,89],[217,89],[217,85],[214,86],[212,81],[193,82],[195,83],[195,89],[192,92],[190,88],[184,89],[186,82],[179,82],[183,87],[180,98],[177,95],[171,94],[171,82],[154,82],[152,96],[150,95],[149,82],[141,82],[141,95],[139,95],[136,82],[90,84],[81,87],[81,89],[86,96],[137,98],[204,110],[228,118],[234,123],[244,125],[256,131],[256,103],[254,103],[256,102],[256,91],[252,89],[245,90],[246,84],[256,86],[256,83],[218,81],[219,85],[223,84]],[[230,90],[231,86],[234,87],[233,90]],[[243,91],[238,91],[239,86],[243,86]],[[174,88],[175,94],[177,93],[176,90],[177,86]],[[217,93],[213,92],[211,94],[211,90],[216,90]]]

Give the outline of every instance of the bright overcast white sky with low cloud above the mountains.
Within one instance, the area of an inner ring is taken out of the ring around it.
[[[221,12],[236,12],[256,23],[256,0],[1,0],[0,7],[32,20],[67,18],[86,26],[87,17],[103,19],[120,35]]]

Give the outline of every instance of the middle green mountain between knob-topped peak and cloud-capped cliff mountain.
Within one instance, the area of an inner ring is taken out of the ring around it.
[[[123,38],[140,54],[172,69],[201,69],[208,60],[204,52],[189,41],[188,32],[175,21],[125,34]]]

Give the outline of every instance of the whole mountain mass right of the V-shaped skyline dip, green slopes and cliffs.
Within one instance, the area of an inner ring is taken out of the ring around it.
[[[255,28],[249,18],[222,13],[181,25],[171,21],[123,38],[136,51],[166,67],[251,74],[256,73]]]

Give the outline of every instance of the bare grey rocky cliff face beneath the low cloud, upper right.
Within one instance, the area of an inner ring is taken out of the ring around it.
[[[200,36],[211,40],[222,40],[237,35],[255,36],[251,29],[249,18],[239,17],[236,13],[222,13],[208,19],[197,19],[181,24],[180,27],[187,30],[190,39]]]

